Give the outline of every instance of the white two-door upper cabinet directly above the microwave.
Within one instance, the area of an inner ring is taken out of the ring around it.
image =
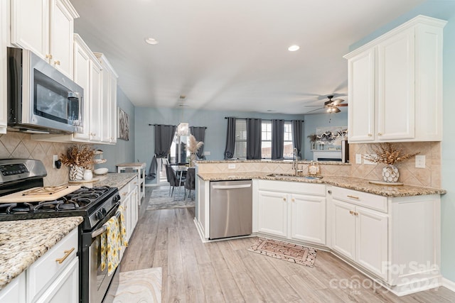
[[[68,0],[12,0],[11,43],[32,50],[73,79],[73,28],[79,18]]]

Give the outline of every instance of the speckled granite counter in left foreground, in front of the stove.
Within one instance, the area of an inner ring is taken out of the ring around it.
[[[82,216],[0,222],[0,290],[82,223]]]

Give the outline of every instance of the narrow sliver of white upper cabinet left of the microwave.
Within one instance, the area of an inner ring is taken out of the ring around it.
[[[6,46],[9,31],[9,1],[0,1],[0,133],[6,133]]]

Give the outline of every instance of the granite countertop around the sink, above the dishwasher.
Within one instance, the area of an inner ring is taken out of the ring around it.
[[[370,194],[378,194],[385,197],[410,197],[420,196],[425,194],[445,194],[444,189],[432,187],[417,187],[411,185],[379,185],[371,184],[368,180],[355,178],[355,177],[336,177],[336,176],[323,176],[323,179],[305,179],[303,177],[289,177],[289,176],[268,176],[269,172],[218,172],[218,173],[199,173],[204,181],[221,181],[221,180],[279,180],[291,182],[305,182],[305,183],[319,183],[329,184],[337,187],[344,187],[348,189],[358,190],[360,192],[368,192]]]

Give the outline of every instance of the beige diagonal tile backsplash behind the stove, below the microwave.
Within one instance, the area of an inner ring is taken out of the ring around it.
[[[65,153],[70,143],[52,143],[31,140],[30,134],[8,132],[0,134],[0,159],[26,158],[41,160],[48,175],[44,177],[44,186],[68,183],[68,167],[60,170],[53,168],[52,156]]]

